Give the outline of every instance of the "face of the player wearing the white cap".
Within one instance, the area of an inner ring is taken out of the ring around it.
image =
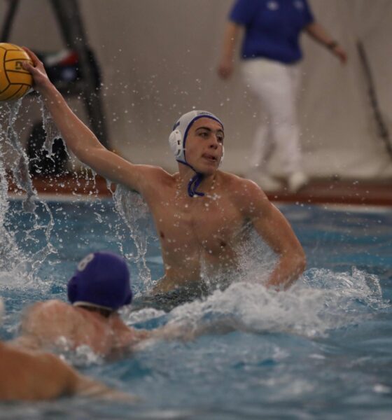
[[[186,161],[197,172],[213,174],[223,155],[225,133],[218,121],[200,118],[191,125],[186,138]]]

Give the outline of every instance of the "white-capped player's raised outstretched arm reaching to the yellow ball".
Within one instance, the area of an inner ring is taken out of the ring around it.
[[[151,173],[152,167],[133,165],[116,153],[104,148],[94,133],[71,111],[62,94],[50,82],[43,63],[34,52],[28,48],[24,49],[31,57],[34,66],[28,62],[23,62],[22,65],[33,76],[34,89],[41,94],[66,146],[81,162],[97,174],[141,192],[144,182],[146,182],[146,176],[148,177],[148,174]]]

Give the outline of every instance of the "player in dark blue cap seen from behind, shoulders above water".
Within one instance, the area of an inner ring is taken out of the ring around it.
[[[130,304],[130,272],[125,260],[111,252],[95,252],[78,263],[68,282],[69,302],[38,302],[22,316],[14,344],[27,349],[75,350],[89,346],[102,357],[121,356],[145,339],[173,339],[179,325],[155,330],[130,328],[118,309]]]

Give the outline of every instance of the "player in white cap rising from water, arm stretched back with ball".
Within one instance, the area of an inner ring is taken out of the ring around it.
[[[134,165],[99,143],[50,82],[36,55],[25,50],[34,66],[28,62],[22,65],[33,76],[34,87],[66,146],[95,172],[137,191],[146,200],[165,267],[165,276],[153,293],[186,293],[217,273],[229,276],[239,267],[239,248],[253,231],[277,255],[267,287],[288,288],[300,276],[306,258],[286,218],[255,183],[218,170],[225,133],[216,116],[190,111],[174,125],[169,144],[179,172],[169,174],[161,167]]]

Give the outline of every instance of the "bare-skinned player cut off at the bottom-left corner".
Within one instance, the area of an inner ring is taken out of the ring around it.
[[[3,303],[0,297],[0,325]],[[129,394],[79,374],[54,354],[0,341],[0,401],[52,400],[79,395],[132,402]]]

